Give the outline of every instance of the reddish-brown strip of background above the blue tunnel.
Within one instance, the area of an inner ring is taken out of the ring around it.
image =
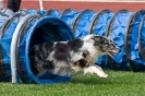
[[[145,9],[145,0],[41,0],[43,8],[57,9],[62,11],[64,9],[92,9],[96,12],[102,9],[109,9],[117,12],[121,9],[129,11],[137,11]],[[0,7],[7,7],[8,0],[1,0]],[[3,3],[2,3],[3,2]],[[22,0],[20,9],[40,9],[39,0]]]

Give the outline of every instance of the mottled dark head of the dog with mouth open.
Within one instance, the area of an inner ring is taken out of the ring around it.
[[[116,57],[120,52],[120,48],[116,46],[112,39],[98,35],[93,35],[92,39],[94,40],[95,48],[105,55]]]

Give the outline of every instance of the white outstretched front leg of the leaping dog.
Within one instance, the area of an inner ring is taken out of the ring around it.
[[[92,74],[95,73],[99,77],[102,77],[102,79],[108,76],[108,74],[106,74],[100,67],[95,65],[95,64],[84,68],[84,74],[86,73],[92,73]]]

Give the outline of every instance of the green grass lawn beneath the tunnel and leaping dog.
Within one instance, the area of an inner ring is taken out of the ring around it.
[[[145,73],[106,73],[107,79],[78,74],[55,85],[0,83],[0,96],[145,96]]]

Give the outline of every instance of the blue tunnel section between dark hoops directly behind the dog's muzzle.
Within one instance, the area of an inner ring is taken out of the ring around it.
[[[128,22],[132,16],[132,12],[128,10],[118,11],[110,21],[106,36],[113,39],[116,45],[121,49],[114,58],[108,56],[108,63],[113,70],[130,70],[129,62],[124,50],[124,35]]]

